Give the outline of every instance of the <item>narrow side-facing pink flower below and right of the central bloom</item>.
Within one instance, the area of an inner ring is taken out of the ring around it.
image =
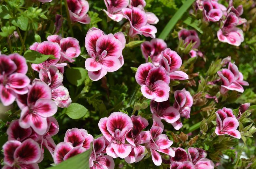
[[[173,107],[179,110],[181,117],[190,118],[190,109],[193,105],[193,98],[185,88],[174,92],[175,103]]]

